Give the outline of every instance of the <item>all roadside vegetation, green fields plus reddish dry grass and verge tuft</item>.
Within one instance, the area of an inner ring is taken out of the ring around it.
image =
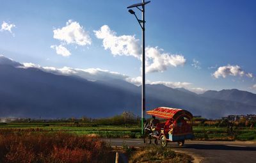
[[[255,121],[193,121],[197,140],[256,140]],[[114,162],[115,148],[100,138],[140,138],[140,125],[140,118],[129,112],[100,119],[2,121],[0,162]],[[191,162],[191,157],[170,147],[124,145],[122,153],[129,162]]]

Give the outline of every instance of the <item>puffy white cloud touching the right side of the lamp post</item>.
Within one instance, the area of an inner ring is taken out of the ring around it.
[[[163,72],[168,66],[183,66],[186,63],[184,56],[169,54],[157,47],[146,48],[146,72]]]

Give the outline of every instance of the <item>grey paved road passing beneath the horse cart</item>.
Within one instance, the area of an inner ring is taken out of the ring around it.
[[[145,146],[142,139],[103,139],[111,146]],[[189,153],[195,162],[256,162],[256,141],[186,141],[180,147],[168,143],[173,150]],[[200,161],[198,161],[200,160]]]

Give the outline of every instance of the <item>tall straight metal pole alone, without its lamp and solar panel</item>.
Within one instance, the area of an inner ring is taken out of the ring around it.
[[[142,3],[145,1],[142,0]],[[141,90],[141,134],[145,121],[145,5],[142,5],[142,90]]]

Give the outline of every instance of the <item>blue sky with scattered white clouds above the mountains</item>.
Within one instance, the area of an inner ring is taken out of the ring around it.
[[[127,10],[140,2],[0,0],[0,54],[140,85],[141,28]],[[256,93],[255,8],[253,0],[152,0],[145,8],[147,83]]]

